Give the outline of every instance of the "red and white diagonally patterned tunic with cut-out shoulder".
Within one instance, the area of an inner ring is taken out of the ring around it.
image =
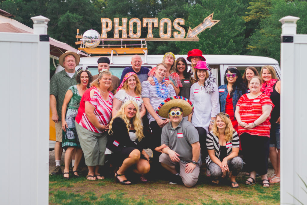
[[[91,90],[94,90],[93,97],[90,97]],[[94,114],[97,117],[99,123],[107,125],[110,122],[112,116],[113,94],[109,91],[109,100],[105,101],[101,97],[99,90],[95,87],[91,87],[85,91],[80,101],[76,122],[92,132],[102,133],[100,130],[97,130],[95,126],[88,120],[85,114],[85,101],[91,103],[95,107]]]

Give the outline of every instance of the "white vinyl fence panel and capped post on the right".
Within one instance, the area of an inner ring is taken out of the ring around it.
[[[281,204],[307,204],[307,35],[286,16],[281,34]],[[305,191],[304,191],[304,190]],[[296,200],[295,198],[298,200]]]

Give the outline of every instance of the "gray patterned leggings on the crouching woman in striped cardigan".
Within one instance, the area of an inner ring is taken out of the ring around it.
[[[227,164],[229,171],[232,171],[231,175],[233,176],[237,176],[243,168],[243,160],[241,159],[241,157],[234,157],[231,160],[228,160]],[[220,166],[215,164],[214,162],[211,162],[208,168],[213,177],[220,177],[223,174]]]

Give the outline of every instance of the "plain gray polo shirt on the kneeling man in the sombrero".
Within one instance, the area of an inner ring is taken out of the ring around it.
[[[171,122],[162,128],[161,144],[166,144],[169,148],[177,152],[182,163],[192,162],[191,144],[199,142],[196,128],[188,120],[182,119],[176,129],[173,129]],[[197,163],[201,163],[201,156]]]

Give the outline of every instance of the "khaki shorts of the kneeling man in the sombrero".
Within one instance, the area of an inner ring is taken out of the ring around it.
[[[187,187],[192,187],[196,184],[198,181],[198,176],[200,172],[200,164],[196,164],[195,169],[190,173],[185,173],[185,165],[181,161],[179,162],[173,162],[168,154],[162,153],[159,157],[159,162],[169,165],[169,166],[175,166],[176,170],[179,170],[179,175],[182,179],[182,182]]]

